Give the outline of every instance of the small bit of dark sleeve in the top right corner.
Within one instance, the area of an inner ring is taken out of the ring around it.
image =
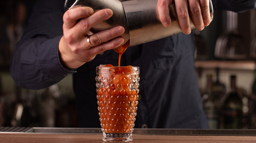
[[[245,12],[256,8],[256,0],[212,0],[214,9]]]

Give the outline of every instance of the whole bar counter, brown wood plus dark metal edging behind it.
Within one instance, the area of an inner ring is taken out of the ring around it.
[[[0,127],[1,143],[102,143],[102,137],[99,128]],[[131,143],[256,143],[256,130],[134,129],[132,137]]]

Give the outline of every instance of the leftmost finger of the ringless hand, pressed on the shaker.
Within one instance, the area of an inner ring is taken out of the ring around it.
[[[171,25],[171,18],[169,15],[169,6],[172,0],[158,0],[157,9],[159,13],[159,18],[164,27],[169,27]]]

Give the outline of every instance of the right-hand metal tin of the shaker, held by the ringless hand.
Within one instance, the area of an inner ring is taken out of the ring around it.
[[[159,40],[181,33],[181,28],[177,18],[174,1],[169,6],[171,26],[164,27],[159,19],[157,10],[158,0],[125,0],[122,1],[129,27],[130,46]],[[213,18],[213,8],[209,1],[211,21]],[[191,29],[195,26],[190,17]]]

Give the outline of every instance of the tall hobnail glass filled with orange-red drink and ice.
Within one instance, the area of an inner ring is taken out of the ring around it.
[[[139,93],[139,67],[96,67],[103,141],[132,141]]]

